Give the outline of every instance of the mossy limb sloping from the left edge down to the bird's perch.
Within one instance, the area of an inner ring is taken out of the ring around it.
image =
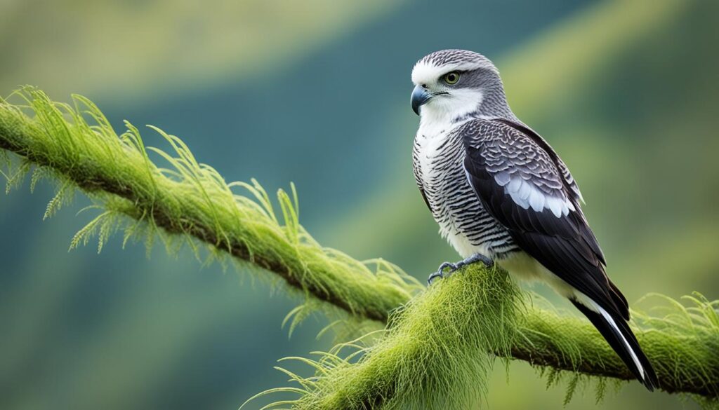
[[[6,172],[12,174],[8,186],[17,185],[32,162],[42,169],[33,174],[33,185],[47,174],[61,181],[47,216],[74,187],[104,210],[75,235],[71,247],[96,235],[101,248],[118,229],[126,242],[136,238],[152,244],[157,234],[170,251],[186,243],[198,258],[203,247],[211,256],[232,255],[279,274],[294,289],[329,302],[328,308],[380,321],[421,289],[386,261],[363,263],[320,246],[298,223],[294,187],[290,194],[278,192],[278,217],[256,181],[226,183],[215,169],[198,164],[176,136],[152,128],[170,145],[170,154],[146,147],[132,124],[116,134],[101,111],[79,95],[73,95],[74,106],[54,103],[34,88],[13,98],[25,104],[1,103],[0,147],[24,161]]]

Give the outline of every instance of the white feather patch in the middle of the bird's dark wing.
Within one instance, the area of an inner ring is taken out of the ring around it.
[[[518,175],[510,175],[507,172],[499,172],[494,176],[495,181],[504,191],[510,195],[512,200],[523,209],[532,208],[535,212],[542,212],[545,208],[557,218],[569,215],[574,211],[574,204],[567,197],[549,195],[540,190],[533,182],[525,180]]]

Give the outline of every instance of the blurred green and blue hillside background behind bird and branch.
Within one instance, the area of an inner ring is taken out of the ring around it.
[[[321,243],[423,279],[457,256],[411,174],[411,68],[475,50],[569,164],[628,299],[719,299],[717,16],[710,0],[0,0],[0,94],[81,93],[227,180],[293,181]],[[92,215],[73,216],[78,196],[42,221],[52,190],[0,197],[0,409],[236,409],[287,384],[278,358],[329,348],[322,318],[289,338],[296,301],[246,273],[121,238],[68,253]],[[562,406],[525,363],[493,378],[491,409]],[[567,409],[682,406],[630,383]]]

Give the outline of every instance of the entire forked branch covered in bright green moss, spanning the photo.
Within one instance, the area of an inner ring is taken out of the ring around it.
[[[31,186],[46,176],[61,181],[47,215],[62,205],[70,187],[86,192],[104,210],[78,232],[73,246],[96,234],[101,247],[124,222],[124,242],[151,240],[160,233],[168,240],[179,238],[196,252],[198,243],[205,244],[213,254],[226,253],[277,274],[306,295],[309,304],[322,301],[322,307],[342,309],[351,317],[389,320],[376,345],[362,345],[361,340],[340,345],[357,349],[350,358],[333,351],[319,360],[303,359],[316,375],[306,379],[290,373],[301,384],[288,390],[301,395],[291,402],[296,408],[411,408],[408,404],[419,403],[456,408],[481,398],[495,355],[549,368],[550,382],[559,371],[632,378],[586,321],[531,307],[502,271],[466,269],[423,291],[386,261],[359,262],[321,247],[298,223],[294,189],[291,195],[278,192],[280,223],[257,182],[227,184],[214,169],[198,164],[175,136],[155,129],[173,149],[167,154],[146,147],[132,124],[116,134],[101,111],[81,96],[73,96],[74,106],[54,103],[32,88],[14,98],[24,104],[0,101],[0,148],[6,150],[0,152],[22,158],[16,167],[6,158],[8,186],[35,165]],[[168,168],[157,167],[151,156]],[[237,188],[249,195],[237,194]],[[135,222],[127,223],[126,217]],[[667,300],[671,309],[663,317],[634,315],[638,339],[661,388],[715,400],[718,302],[696,297],[685,307]],[[576,381],[569,383],[569,393]]]

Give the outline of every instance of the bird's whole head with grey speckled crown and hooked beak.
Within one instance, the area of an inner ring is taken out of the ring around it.
[[[502,80],[485,56],[467,50],[441,50],[426,55],[412,70],[412,109],[423,118],[452,121],[482,114],[487,96],[506,106]],[[497,107],[497,109],[504,107]],[[508,107],[506,107],[508,109]],[[487,113],[489,114],[489,113]]]

